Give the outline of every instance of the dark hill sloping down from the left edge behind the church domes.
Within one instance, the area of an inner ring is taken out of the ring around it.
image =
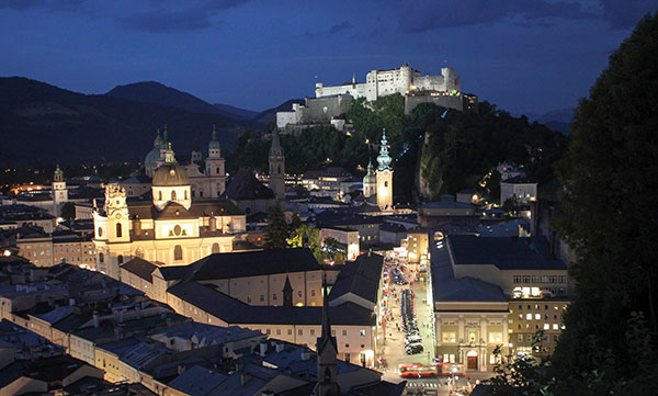
[[[87,95],[20,77],[0,78],[0,163],[143,159],[163,124],[174,151],[182,155],[194,140],[203,147],[213,124],[224,147],[232,147],[236,136],[253,125],[216,113]]]

